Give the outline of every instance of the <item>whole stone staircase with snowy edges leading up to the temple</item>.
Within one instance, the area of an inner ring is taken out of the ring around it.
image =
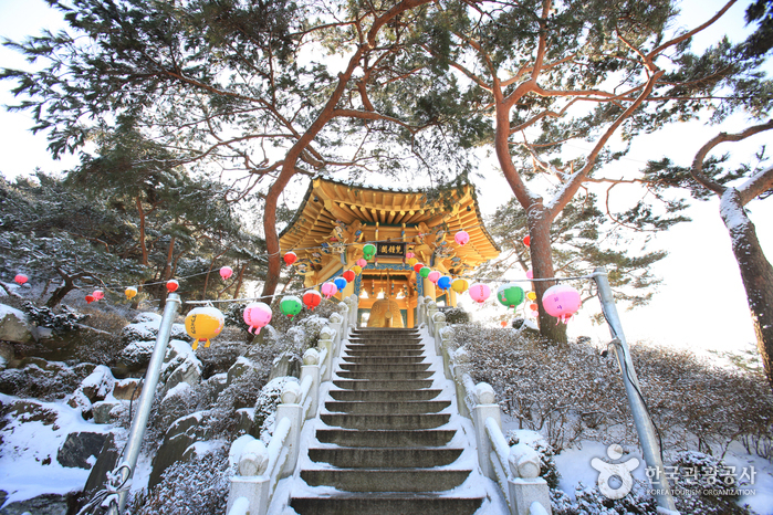
[[[301,449],[295,513],[504,513],[441,367],[417,329],[353,330]]]

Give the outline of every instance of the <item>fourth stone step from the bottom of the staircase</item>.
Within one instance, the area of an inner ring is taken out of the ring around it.
[[[344,446],[440,446],[448,444],[456,431],[432,429],[426,431],[411,430],[364,430],[352,429],[317,429],[316,439],[321,443],[333,443]]]

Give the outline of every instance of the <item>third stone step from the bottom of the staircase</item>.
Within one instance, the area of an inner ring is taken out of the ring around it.
[[[309,458],[342,469],[406,469],[443,466],[453,463],[462,453],[452,448],[326,448],[310,449]]]

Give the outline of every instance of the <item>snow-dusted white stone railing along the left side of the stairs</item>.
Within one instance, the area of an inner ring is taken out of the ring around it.
[[[356,314],[357,298],[353,295],[340,303],[338,312],[331,315],[328,324],[320,332],[317,347],[305,351],[300,382],[288,382],[282,391],[269,444],[255,439],[241,442],[237,473],[231,477],[228,496],[229,515],[265,515],[276,483],[292,475],[303,424],[316,416],[320,385],[330,381],[333,360],[340,356],[342,341],[356,323]]]

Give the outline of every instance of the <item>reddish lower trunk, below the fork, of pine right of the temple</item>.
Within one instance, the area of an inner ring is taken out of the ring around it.
[[[534,278],[553,277],[553,254],[551,253],[551,223],[545,208],[542,203],[532,204],[526,212],[529,218],[529,235],[532,258],[532,273]],[[566,343],[566,326],[556,324],[556,318],[549,315],[542,305],[542,295],[555,284],[554,281],[535,281],[534,293],[536,293],[537,305],[540,306],[540,334],[557,344]]]

